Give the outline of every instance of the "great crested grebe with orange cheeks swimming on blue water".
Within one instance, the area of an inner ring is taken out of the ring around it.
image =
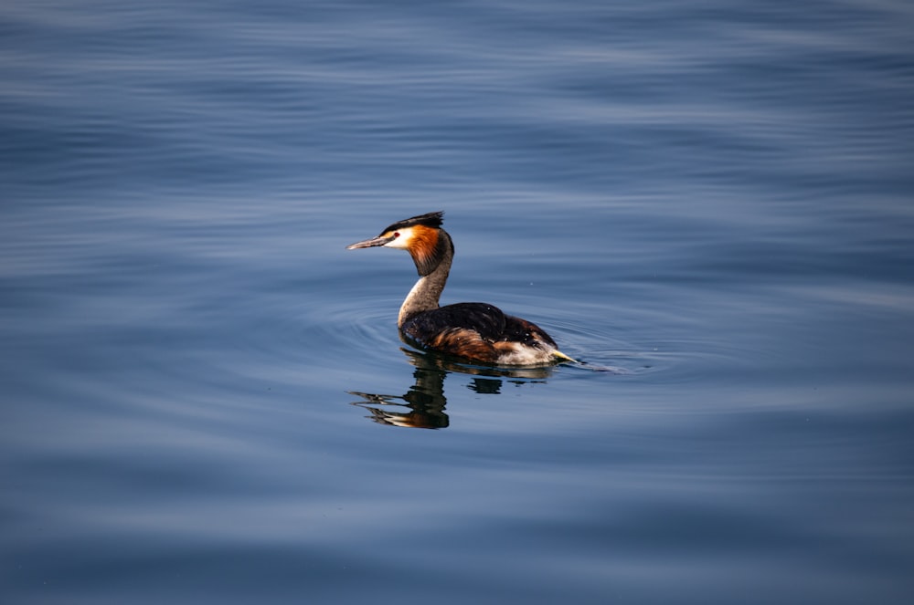
[[[347,245],[347,250],[383,245],[409,252],[419,281],[400,307],[400,333],[431,349],[474,361],[507,366],[542,366],[574,361],[536,324],[515,318],[486,303],[439,307],[448,281],[454,245],[441,229],[443,212],[420,214],[391,224],[375,238]]]

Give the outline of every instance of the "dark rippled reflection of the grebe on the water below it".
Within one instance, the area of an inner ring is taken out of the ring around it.
[[[552,368],[490,368],[471,366],[433,352],[400,349],[415,370],[412,372],[415,384],[403,395],[383,395],[348,391],[363,401],[353,402],[371,413],[368,418],[380,424],[404,426],[414,429],[443,429],[450,419],[444,408],[444,379],[452,373],[472,374],[473,380],[467,385],[471,391],[480,394],[497,395],[501,392],[503,379],[509,381],[545,381]],[[515,380],[512,380],[515,379]]]

